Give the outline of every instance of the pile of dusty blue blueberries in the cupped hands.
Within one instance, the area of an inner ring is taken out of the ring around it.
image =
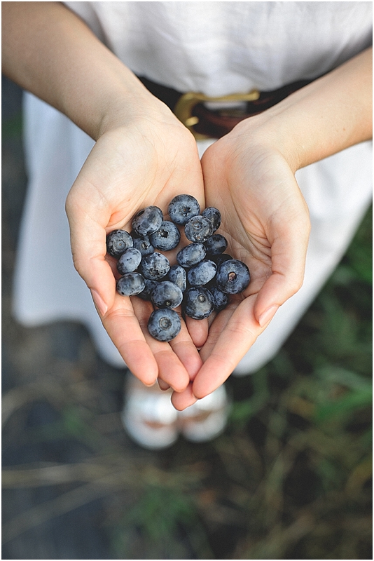
[[[137,295],[155,306],[148,320],[148,331],[158,341],[171,341],[181,330],[174,311],[182,306],[186,316],[205,319],[213,311],[224,309],[230,294],[238,294],[249,285],[246,264],[224,253],[226,238],[214,234],[221,214],[214,207],[203,210],[191,195],[177,195],[169,204],[170,220],[162,210],[148,206],[132,220],[132,232],[113,230],[106,236],[109,255],[116,257],[122,275],[117,291],[123,296]],[[176,255],[176,264],[160,251],[179,245],[184,227],[191,241]]]

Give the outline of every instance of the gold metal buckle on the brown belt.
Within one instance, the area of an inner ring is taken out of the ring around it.
[[[230,95],[221,95],[220,97],[209,97],[203,93],[188,92],[179,97],[176,106],[174,107],[174,114],[178,117],[179,121],[184,126],[191,130],[196,140],[205,140],[209,138],[207,135],[201,135],[193,130],[193,126],[197,125],[199,118],[191,115],[193,107],[196,104],[211,101],[211,102],[239,102],[239,101],[256,101],[260,97],[258,90],[251,90],[249,93],[232,93]]]

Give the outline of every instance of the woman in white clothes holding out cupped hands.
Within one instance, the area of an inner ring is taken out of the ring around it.
[[[370,203],[371,21],[368,2],[3,4],[3,70],[52,106],[26,100],[16,317],[83,321],[106,360],[170,386],[180,411],[270,360]],[[209,97],[294,91],[197,146],[137,76]],[[141,330],[147,304],[116,295],[105,234],[181,193],[221,210],[252,280],[212,325],[188,321],[162,344]]]

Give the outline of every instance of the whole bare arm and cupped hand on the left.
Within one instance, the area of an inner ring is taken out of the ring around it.
[[[151,339],[150,306],[116,294],[106,234],[130,230],[133,215],[147,205],[166,212],[176,194],[191,193],[204,206],[195,140],[60,2],[8,2],[2,15],[6,76],[97,141],[67,197],[76,269],[130,370],[145,384],[160,377],[181,391],[200,368],[196,346],[184,324],[170,344]],[[196,330],[194,337],[199,344]]]

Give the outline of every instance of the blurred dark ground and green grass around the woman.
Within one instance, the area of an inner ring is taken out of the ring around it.
[[[25,328],[26,176],[3,79],[3,559],[372,559],[372,211],[282,350],[231,378],[226,432],[148,452],[85,329]]]

